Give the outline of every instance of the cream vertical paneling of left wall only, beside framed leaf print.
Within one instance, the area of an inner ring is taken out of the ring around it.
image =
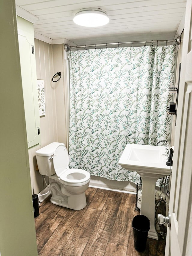
[[[35,193],[38,194],[46,187],[46,185],[44,184],[43,176],[40,175],[38,171],[36,171],[35,151],[40,147],[44,147],[51,142],[57,141],[55,125],[55,88],[51,84],[53,74],[52,45],[35,39],[35,58],[37,79],[44,80],[46,107],[46,115],[40,117],[41,145],[37,145],[29,149],[29,164],[32,188],[35,188]]]

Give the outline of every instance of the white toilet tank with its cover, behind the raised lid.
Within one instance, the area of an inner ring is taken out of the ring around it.
[[[41,149],[35,152],[39,173],[41,175],[50,176],[55,174],[55,169],[53,166],[53,154],[55,152],[55,149],[59,145],[64,145],[64,144],[59,142],[52,142],[51,144],[45,147],[42,147]]]

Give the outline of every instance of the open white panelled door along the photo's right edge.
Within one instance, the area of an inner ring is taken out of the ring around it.
[[[175,152],[170,191],[171,226],[165,256],[192,255],[192,0],[187,0]]]

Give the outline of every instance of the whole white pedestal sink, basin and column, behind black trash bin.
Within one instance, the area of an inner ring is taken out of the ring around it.
[[[127,144],[119,164],[130,171],[136,171],[142,178],[141,214],[151,222],[148,237],[158,240],[155,230],[155,184],[159,178],[170,175],[170,166],[166,165],[166,147]]]

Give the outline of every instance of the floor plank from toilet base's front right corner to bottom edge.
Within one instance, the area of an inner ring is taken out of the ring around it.
[[[81,256],[101,211],[87,208],[59,256]]]

